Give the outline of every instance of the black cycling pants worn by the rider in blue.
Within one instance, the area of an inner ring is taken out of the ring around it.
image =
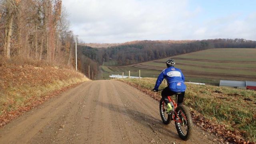
[[[167,96],[172,96],[172,95],[174,95],[175,93],[176,93],[176,92],[171,91],[171,90],[169,89],[169,87],[166,87],[166,88],[163,89],[161,95],[162,95],[162,98],[164,98],[164,102],[166,103],[166,105],[167,105],[168,103],[170,103],[169,100],[168,100],[168,98],[167,98]],[[178,96],[178,105],[182,105],[182,102],[183,102],[183,99],[184,99],[184,95],[185,95],[185,92],[181,92],[181,94]]]

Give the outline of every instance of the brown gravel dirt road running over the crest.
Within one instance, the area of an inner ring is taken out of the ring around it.
[[[179,138],[164,125],[158,101],[120,81],[88,81],[26,112],[0,129],[0,144],[214,144],[195,127]]]

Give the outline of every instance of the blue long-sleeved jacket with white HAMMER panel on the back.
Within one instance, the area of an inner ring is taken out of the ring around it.
[[[164,69],[156,80],[154,89],[158,89],[162,81],[166,79],[168,87],[174,92],[184,92],[186,90],[185,77],[180,69],[176,67],[168,67]]]

